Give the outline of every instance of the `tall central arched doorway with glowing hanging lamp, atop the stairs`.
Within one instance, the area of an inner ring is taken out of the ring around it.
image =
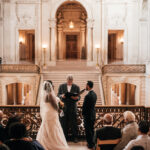
[[[87,12],[78,2],[63,3],[56,12],[57,59],[86,59]]]

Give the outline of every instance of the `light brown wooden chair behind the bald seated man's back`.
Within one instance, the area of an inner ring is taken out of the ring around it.
[[[120,138],[119,139],[114,139],[114,140],[100,140],[97,139],[97,146],[96,146],[96,150],[101,150],[100,146],[101,145],[109,145],[109,144],[114,144],[117,145],[120,142]]]

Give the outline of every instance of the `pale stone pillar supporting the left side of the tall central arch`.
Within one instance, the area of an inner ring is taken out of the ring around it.
[[[50,64],[56,64],[56,19],[50,19]]]

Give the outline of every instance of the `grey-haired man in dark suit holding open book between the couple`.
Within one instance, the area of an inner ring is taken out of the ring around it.
[[[67,76],[67,82],[61,84],[58,89],[58,97],[64,102],[64,116],[61,117],[61,124],[66,139],[68,139],[68,130],[71,128],[73,141],[76,143],[77,127],[77,102],[80,100],[80,88],[73,83],[73,76]]]

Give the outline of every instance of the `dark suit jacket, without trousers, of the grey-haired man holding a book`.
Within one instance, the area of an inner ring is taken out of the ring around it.
[[[61,97],[61,95],[65,94],[67,92],[68,92],[67,83],[61,84],[58,89],[58,97],[65,103],[65,107],[67,107],[67,109],[73,109],[76,107],[76,102],[80,100],[80,96],[79,96],[78,100],[72,100],[71,98],[63,99]],[[71,93],[80,93],[79,86],[77,86],[76,84],[72,84],[70,92]]]

